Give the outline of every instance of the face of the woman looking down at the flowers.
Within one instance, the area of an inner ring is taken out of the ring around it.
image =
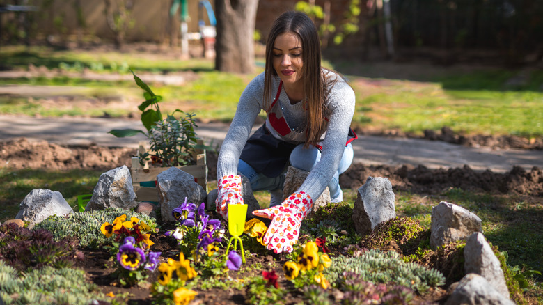
[[[303,77],[301,68],[301,41],[292,32],[282,33],[275,38],[272,49],[274,69],[286,87],[301,86]],[[301,87],[300,87],[301,88]]]

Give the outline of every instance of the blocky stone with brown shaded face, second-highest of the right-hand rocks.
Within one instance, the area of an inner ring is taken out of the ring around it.
[[[466,240],[475,232],[482,232],[481,219],[453,203],[441,201],[432,208],[430,247],[437,247],[459,240]]]

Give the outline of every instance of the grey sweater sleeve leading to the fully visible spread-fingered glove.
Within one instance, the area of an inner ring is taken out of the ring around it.
[[[313,167],[304,183],[297,190],[305,191],[314,201],[328,186],[333,174],[338,169],[341,157],[343,157],[354,114],[354,91],[343,79],[338,79],[327,102],[331,115],[326,128],[326,136],[322,141],[320,162]]]

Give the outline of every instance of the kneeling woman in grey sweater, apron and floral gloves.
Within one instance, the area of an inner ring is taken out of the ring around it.
[[[338,176],[353,158],[355,97],[345,80],[321,68],[320,61],[313,21],[299,12],[278,17],[266,44],[265,72],[242,93],[219,153],[217,212],[228,219],[228,204],[243,204],[237,173],[249,178],[253,191],[271,191],[271,208],[253,214],[272,219],[264,242],[275,253],[292,252],[302,219],[326,187],[332,201],[343,201]],[[266,123],[249,138],[262,109]],[[281,202],[289,163],[309,174]]]

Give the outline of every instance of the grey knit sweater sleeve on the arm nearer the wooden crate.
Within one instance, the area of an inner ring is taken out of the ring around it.
[[[255,119],[262,109],[263,92],[264,73],[262,72],[246,86],[241,97],[239,97],[236,113],[232,123],[230,123],[217,159],[217,180],[225,175],[237,174],[239,156],[242,155],[242,150],[247,139],[249,139]]]

